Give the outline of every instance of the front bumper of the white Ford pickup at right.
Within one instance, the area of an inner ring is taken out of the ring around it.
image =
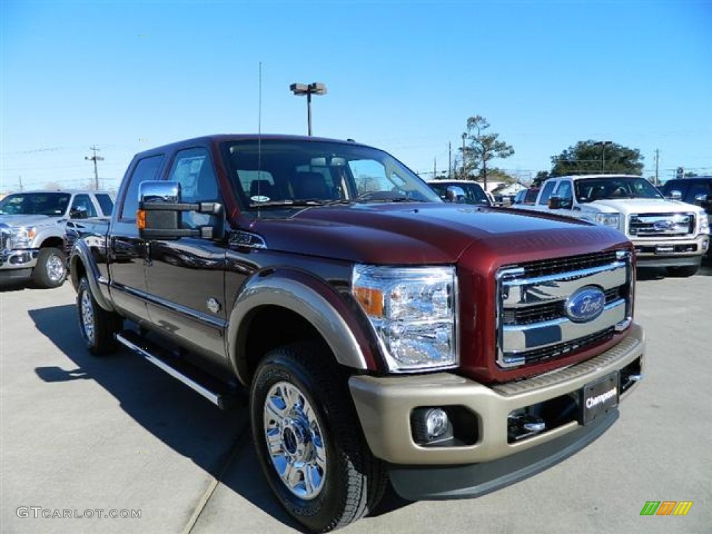
[[[632,239],[641,267],[698,266],[710,247],[710,236],[680,241]]]

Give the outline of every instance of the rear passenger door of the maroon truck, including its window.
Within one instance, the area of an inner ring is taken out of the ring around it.
[[[147,316],[147,284],[144,273],[147,247],[136,227],[138,188],[141,182],[157,179],[164,155],[139,159],[130,168],[129,182],[120,192],[117,214],[112,221],[108,242],[111,297],[118,308],[136,320]]]

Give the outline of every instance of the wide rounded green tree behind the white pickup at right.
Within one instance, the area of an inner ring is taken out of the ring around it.
[[[614,142],[579,141],[551,158],[550,176],[567,174],[641,174],[640,150]]]

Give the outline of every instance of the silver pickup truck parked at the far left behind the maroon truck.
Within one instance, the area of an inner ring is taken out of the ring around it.
[[[61,286],[67,276],[66,222],[110,216],[113,206],[108,192],[9,194],[0,201],[0,282],[31,280],[40,288]]]

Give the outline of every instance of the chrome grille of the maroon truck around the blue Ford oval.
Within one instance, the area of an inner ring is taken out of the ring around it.
[[[600,345],[630,324],[632,257],[628,251],[569,256],[498,271],[497,362],[500,367],[555,360]],[[590,320],[567,313],[588,288],[603,293]]]

